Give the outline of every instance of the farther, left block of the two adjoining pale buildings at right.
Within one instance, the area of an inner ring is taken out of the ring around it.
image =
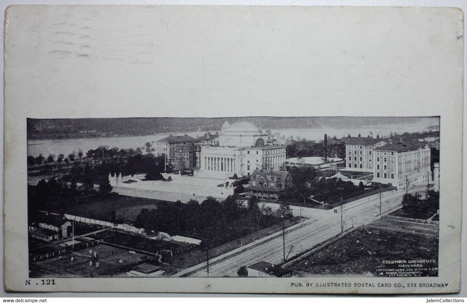
[[[374,150],[379,146],[388,144],[380,138],[350,137],[342,138],[346,143],[346,169],[359,172],[373,172]]]

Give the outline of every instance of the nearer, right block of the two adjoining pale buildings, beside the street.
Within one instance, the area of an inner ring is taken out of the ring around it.
[[[373,182],[391,183],[398,189],[428,184],[430,145],[426,142],[399,142],[374,149]]]

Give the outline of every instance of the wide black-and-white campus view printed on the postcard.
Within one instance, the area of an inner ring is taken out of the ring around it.
[[[439,117],[28,119],[29,276],[437,276],[439,146]]]

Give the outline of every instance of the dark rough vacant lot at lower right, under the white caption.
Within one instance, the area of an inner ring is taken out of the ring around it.
[[[438,240],[436,236],[359,228],[327,247],[292,265],[292,269],[312,275],[382,276],[398,264],[385,261],[436,260],[417,268],[421,276],[438,275]],[[402,274],[415,274],[403,272]]]

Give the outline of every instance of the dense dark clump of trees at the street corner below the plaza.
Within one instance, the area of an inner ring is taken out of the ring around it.
[[[256,230],[268,227],[285,219],[290,219],[290,207],[283,204],[273,212],[258,200],[248,200],[248,206],[233,196],[223,201],[213,197],[199,203],[190,200],[187,204],[159,202],[157,209],[143,208],[134,221],[134,226],[151,232],[187,234],[201,237],[209,246],[217,246],[233,241]],[[206,244],[206,243],[205,243]]]

